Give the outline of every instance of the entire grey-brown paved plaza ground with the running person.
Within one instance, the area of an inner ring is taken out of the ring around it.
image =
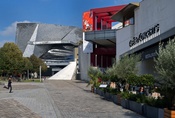
[[[90,92],[82,81],[0,85],[0,118],[142,118]]]

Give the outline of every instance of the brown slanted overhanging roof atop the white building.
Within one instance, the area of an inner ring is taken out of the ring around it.
[[[121,9],[119,12],[114,14],[111,17],[111,19],[113,19],[115,21],[123,22],[124,17],[125,17],[125,20],[132,18],[134,16],[134,10],[137,7],[139,7],[139,3],[129,3],[123,9]]]

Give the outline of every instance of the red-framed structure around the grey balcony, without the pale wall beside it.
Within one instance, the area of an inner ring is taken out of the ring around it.
[[[116,56],[116,29],[112,30],[115,22],[111,16],[124,8],[125,5],[90,9],[83,14],[84,39],[93,42],[91,65],[100,68],[110,67]],[[84,50],[87,52],[86,50]]]

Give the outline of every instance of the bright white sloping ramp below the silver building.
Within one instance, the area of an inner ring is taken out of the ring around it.
[[[71,80],[76,72],[76,62],[70,62],[65,68],[48,78],[48,80]]]

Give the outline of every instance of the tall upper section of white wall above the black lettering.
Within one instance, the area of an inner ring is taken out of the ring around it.
[[[135,10],[135,36],[159,24],[160,33],[175,27],[175,0],[143,0]]]

